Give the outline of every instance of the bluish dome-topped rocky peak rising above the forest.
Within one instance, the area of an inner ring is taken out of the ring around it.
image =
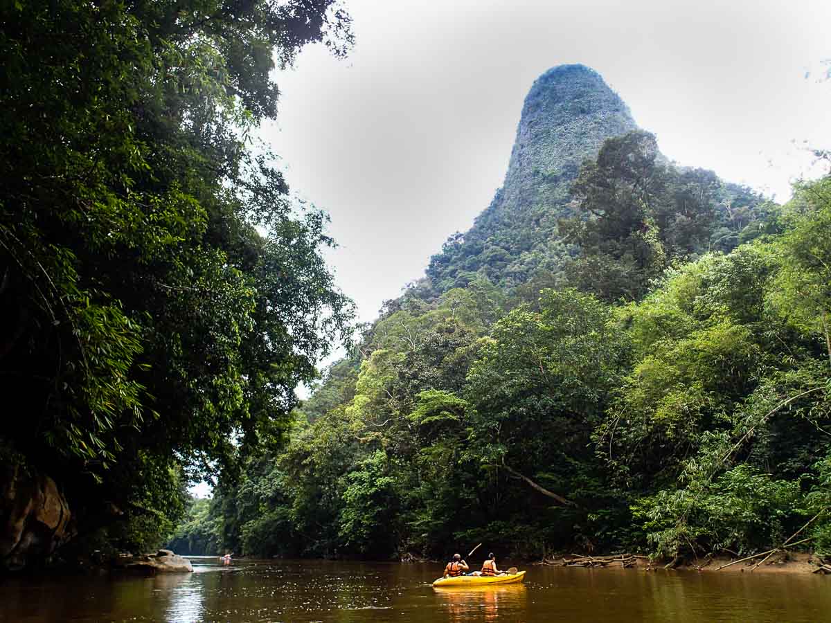
[[[569,213],[580,165],[607,138],[635,129],[627,105],[596,71],[562,65],[539,76],[525,98],[502,188],[473,228],[430,261],[435,290],[465,286],[476,272],[510,286],[556,267],[568,253],[557,221]]]

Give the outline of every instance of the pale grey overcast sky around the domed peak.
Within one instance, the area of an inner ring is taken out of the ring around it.
[[[489,204],[549,67],[593,67],[669,158],[779,200],[805,171],[801,141],[831,146],[831,2],[346,5],[352,54],[308,47],[279,72],[262,136],[293,192],[331,214],[328,259],[364,321]]]

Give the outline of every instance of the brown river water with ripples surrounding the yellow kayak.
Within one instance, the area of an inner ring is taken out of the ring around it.
[[[5,578],[0,621],[831,621],[831,576],[524,567],[434,589],[442,566],[192,558],[184,575]]]

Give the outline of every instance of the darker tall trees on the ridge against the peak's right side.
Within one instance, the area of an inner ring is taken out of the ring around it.
[[[581,249],[566,263],[568,282],[609,302],[637,300],[667,267],[730,251],[763,231],[768,208],[758,198],[730,196],[735,189],[712,171],[677,169],[657,155],[655,137],[634,131],[607,140],[583,167],[573,185],[578,216],[561,223],[564,238]],[[725,197],[750,205],[717,206]]]

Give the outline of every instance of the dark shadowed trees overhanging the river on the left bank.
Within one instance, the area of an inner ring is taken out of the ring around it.
[[[276,113],[275,58],[342,53],[349,20],[331,0],[0,18],[4,455],[57,478],[82,532],[118,508],[135,525],[113,533],[141,547],[184,510],[170,474],[231,473],[278,438],[349,321],[325,216],[248,147]]]

